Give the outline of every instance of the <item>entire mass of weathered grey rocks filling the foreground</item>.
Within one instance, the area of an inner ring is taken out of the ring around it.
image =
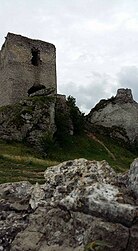
[[[0,185],[0,250],[138,250],[137,167],[76,159],[47,168],[43,185]]]

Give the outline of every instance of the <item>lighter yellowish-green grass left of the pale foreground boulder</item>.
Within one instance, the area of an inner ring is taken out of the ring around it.
[[[0,183],[28,180],[44,183],[44,171],[58,162],[42,159],[34,149],[0,141]]]

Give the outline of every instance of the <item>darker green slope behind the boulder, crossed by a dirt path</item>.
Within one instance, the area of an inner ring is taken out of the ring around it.
[[[99,136],[97,138],[101,140]],[[75,158],[106,160],[117,172],[128,170],[136,155],[111,139],[104,138],[102,143],[104,143],[111,154],[102,144],[87,135],[70,136],[64,145],[55,144],[52,146],[49,149],[48,157],[58,162]]]

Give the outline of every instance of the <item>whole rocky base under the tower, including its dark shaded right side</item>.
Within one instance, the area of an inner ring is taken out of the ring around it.
[[[74,134],[66,96],[52,96],[47,91],[36,91],[19,103],[0,107],[0,139],[27,142],[47,154],[45,146],[53,136],[61,140],[61,132]]]

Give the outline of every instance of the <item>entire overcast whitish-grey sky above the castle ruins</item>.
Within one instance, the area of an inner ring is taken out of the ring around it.
[[[58,92],[83,112],[122,87],[138,101],[138,0],[0,0],[8,32],[55,44]]]

